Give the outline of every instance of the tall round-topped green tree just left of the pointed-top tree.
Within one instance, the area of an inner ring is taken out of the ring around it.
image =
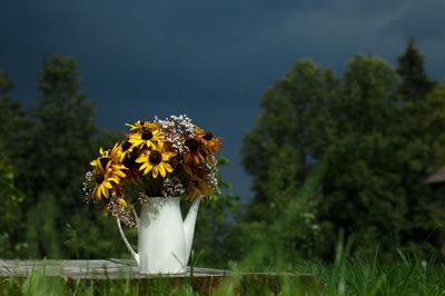
[[[323,254],[333,256],[340,228],[357,241],[379,241],[384,250],[399,244],[406,205],[394,157],[398,83],[392,67],[376,57],[357,56],[348,63],[332,106],[335,140],[326,147],[318,217],[327,243]],[[357,247],[372,255],[375,246]]]

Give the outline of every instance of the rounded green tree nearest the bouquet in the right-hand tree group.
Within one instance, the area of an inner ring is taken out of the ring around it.
[[[314,165],[324,158],[335,130],[328,106],[336,92],[333,72],[306,60],[298,61],[265,92],[257,127],[246,134],[243,146],[244,166],[254,177],[255,197],[247,206],[250,223],[245,226],[250,237],[254,233],[260,236],[261,229],[280,217]],[[304,209],[306,217],[314,217],[314,201]],[[315,234],[305,230],[313,229],[314,220],[305,224],[299,217],[288,221],[293,227],[279,230],[283,244],[295,255],[301,251],[303,241],[314,240],[301,234]],[[304,251],[312,253],[313,246]]]

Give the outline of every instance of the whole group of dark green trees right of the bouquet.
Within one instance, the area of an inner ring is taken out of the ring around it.
[[[314,165],[323,164],[308,210],[316,216],[312,226],[320,227],[313,253],[332,258],[339,229],[355,237],[355,251],[365,256],[376,244],[383,254],[445,244],[445,208],[425,184],[445,162],[444,83],[434,87],[426,77],[413,40],[398,60],[395,70],[358,55],[340,79],[298,61],[267,89],[243,148],[255,191],[246,229],[280,217]],[[288,240],[314,239],[314,231],[295,226],[304,220],[294,223],[294,231],[281,229]],[[294,246],[291,251],[307,254],[304,244]]]

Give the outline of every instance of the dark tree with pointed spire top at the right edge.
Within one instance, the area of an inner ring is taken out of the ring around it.
[[[408,211],[407,228],[403,234],[404,245],[422,241],[429,248],[441,247],[445,215],[433,198],[432,188],[425,184],[427,176],[445,164],[442,121],[445,115],[443,83],[434,88],[426,76],[424,59],[413,39],[398,58],[399,88],[399,137],[397,158],[400,159],[402,186],[406,191]],[[433,89],[434,88],[434,89]]]

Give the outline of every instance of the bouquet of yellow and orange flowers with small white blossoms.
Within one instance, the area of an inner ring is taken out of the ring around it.
[[[83,182],[87,200],[132,227],[136,200],[180,196],[191,201],[219,193],[215,154],[221,142],[210,131],[185,115],[127,126],[127,139],[100,148],[91,161]]]

